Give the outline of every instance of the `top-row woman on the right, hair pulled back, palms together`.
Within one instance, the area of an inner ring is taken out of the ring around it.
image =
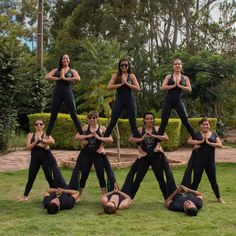
[[[165,132],[169,121],[171,110],[174,108],[179,115],[182,123],[194,138],[194,129],[188,121],[185,106],[182,100],[183,92],[191,92],[189,78],[182,74],[183,64],[180,59],[175,59],[173,63],[173,73],[167,75],[162,83],[161,90],[166,90],[166,96],[162,107],[161,124],[158,134]]]

